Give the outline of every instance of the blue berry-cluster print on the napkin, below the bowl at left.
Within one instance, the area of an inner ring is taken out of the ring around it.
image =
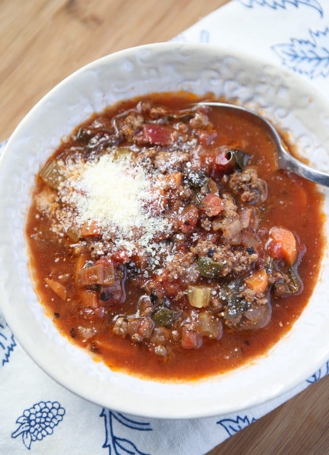
[[[35,403],[16,420],[19,427],[11,437],[17,438],[22,434],[23,443],[30,450],[32,442],[41,441],[52,434],[54,427],[63,420],[64,414],[65,409],[57,401]]]

